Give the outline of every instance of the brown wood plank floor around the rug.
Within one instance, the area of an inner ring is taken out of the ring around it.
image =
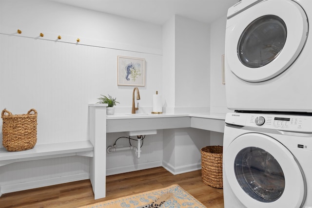
[[[159,167],[107,176],[106,182],[106,198],[98,200],[94,200],[90,180],[83,180],[3,194],[0,208],[77,208],[173,184],[178,184],[208,208],[224,207],[223,189],[205,185],[201,170],[173,175]]]

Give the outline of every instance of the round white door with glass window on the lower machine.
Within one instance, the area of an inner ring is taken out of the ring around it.
[[[292,153],[261,133],[238,136],[223,152],[225,177],[246,207],[299,208],[306,181]]]

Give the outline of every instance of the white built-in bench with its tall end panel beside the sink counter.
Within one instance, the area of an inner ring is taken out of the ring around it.
[[[25,151],[6,151],[5,148],[0,148],[0,167],[15,162],[47,158],[74,155],[90,157],[90,181],[94,198],[105,197],[106,107],[107,104],[89,104],[89,140],[36,144],[33,149]],[[0,196],[1,194],[0,186]]]

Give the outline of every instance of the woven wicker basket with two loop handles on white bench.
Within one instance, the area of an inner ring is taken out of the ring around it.
[[[7,151],[29,150],[35,146],[37,142],[37,111],[35,109],[30,109],[27,114],[20,115],[13,115],[4,109],[1,118],[3,120],[2,145]]]

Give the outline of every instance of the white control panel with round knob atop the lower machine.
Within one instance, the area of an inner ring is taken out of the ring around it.
[[[264,113],[227,113],[225,123],[289,132],[312,132],[312,116]]]

